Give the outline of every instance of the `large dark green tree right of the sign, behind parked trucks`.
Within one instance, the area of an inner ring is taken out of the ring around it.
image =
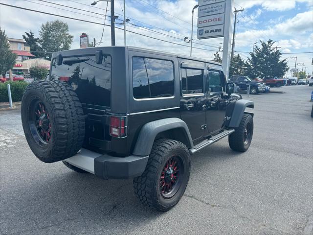
[[[281,60],[282,54],[273,47],[275,43],[269,39],[261,42],[261,47],[255,47],[254,52],[250,52],[250,58],[245,63],[246,75],[251,78],[273,78],[282,77],[288,71],[287,59]]]

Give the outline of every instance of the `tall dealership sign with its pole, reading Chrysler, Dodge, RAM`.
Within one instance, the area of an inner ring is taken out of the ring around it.
[[[223,68],[228,78],[234,0],[198,0],[197,38],[224,37]]]

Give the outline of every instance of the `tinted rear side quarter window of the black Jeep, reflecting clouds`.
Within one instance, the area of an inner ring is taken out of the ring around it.
[[[136,99],[174,95],[172,61],[133,57],[133,94]]]

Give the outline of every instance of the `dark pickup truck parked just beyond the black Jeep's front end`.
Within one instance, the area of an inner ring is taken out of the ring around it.
[[[250,85],[250,94],[263,93],[265,87],[264,83],[254,81],[247,76],[233,75],[230,77],[229,81],[239,86],[242,91],[247,91]]]

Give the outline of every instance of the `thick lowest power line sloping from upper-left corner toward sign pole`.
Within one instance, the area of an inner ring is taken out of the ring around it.
[[[62,17],[62,18],[67,18],[67,19],[76,20],[76,21],[81,21],[81,22],[87,22],[87,23],[91,23],[91,24],[104,25],[104,24],[102,24],[102,23],[97,23],[97,22],[91,22],[91,21],[81,20],[81,19],[77,19],[77,18],[73,18],[73,17],[61,16],[61,15],[52,14],[52,13],[48,13],[48,12],[43,12],[43,11],[37,11],[37,10],[33,10],[33,9],[28,9],[28,8],[24,8],[24,7],[20,7],[20,6],[9,5],[9,4],[5,4],[5,3],[1,3],[1,2],[0,2],[0,5],[10,6],[10,7],[19,8],[19,9],[22,9],[22,10],[38,12],[38,13],[42,13],[42,14],[47,14],[47,15],[52,15],[52,16],[57,16],[57,17]],[[110,24],[105,24],[105,25],[106,25],[106,26],[111,26]],[[120,30],[124,30],[124,29],[119,28],[119,27],[116,27],[116,26],[115,26],[115,28],[118,28],[118,29],[120,29]],[[134,32],[134,31],[130,31],[130,30],[126,30],[126,31],[131,32],[131,33],[134,33],[134,34],[137,34],[137,35],[141,35],[141,36],[144,36],[144,37],[152,38],[152,39],[155,39],[155,40],[158,40],[158,41],[162,41],[162,42],[166,42],[166,43],[171,43],[171,44],[179,45],[179,46],[182,46],[182,47],[189,47],[189,46],[187,46],[187,45],[183,45],[183,44],[179,44],[179,43],[174,43],[174,42],[166,41],[166,40],[163,40],[163,39],[151,37],[151,36],[144,35],[144,34],[141,34],[141,33],[137,33],[137,32]],[[204,49],[204,48],[199,48],[199,47],[194,47],[194,48],[196,48],[196,49],[201,49],[201,50],[207,50],[207,51],[215,51],[215,50],[209,50],[209,49]]]

